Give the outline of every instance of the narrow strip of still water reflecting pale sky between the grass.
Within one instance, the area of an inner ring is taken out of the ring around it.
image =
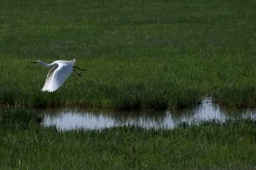
[[[177,124],[198,124],[215,119],[224,122],[227,119],[256,118],[256,109],[223,109],[208,103],[184,110],[141,110],[141,111],[87,111],[79,109],[46,110],[43,119],[45,126],[56,126],[59,130],[76,128],[104,129],[113,126],[139,126],[145,128],[171,129]]]

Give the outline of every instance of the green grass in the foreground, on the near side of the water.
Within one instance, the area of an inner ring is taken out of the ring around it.
[[[35,111],[0,115],[0,169],[180,169],[256,166],[252,120],[172,130],[114,127],[58,132],[38,125]]]

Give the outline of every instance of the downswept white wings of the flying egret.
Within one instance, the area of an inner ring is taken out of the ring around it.
[[[45,80],[45,85],[41,91],[54,92],[56,91],[64,81],[70,76],[72,73],[73,67],[72,65],[66,65],[64,63],[58,63],[58,65],[52,68]]]

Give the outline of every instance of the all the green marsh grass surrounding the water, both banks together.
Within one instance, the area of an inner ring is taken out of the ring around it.
[[[64,132],[29,109],[177,110],[205,97],[255,108],[255,9],[252,0],[0,0],[0,169],[255,168],[252,119]],[[41,92],[49,70],[30,62],[74,58],[86,75]]]

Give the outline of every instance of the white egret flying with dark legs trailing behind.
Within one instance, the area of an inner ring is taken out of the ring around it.
[[[53,63],[45,63],[41,60],[38,60],[36,62],[32,63],[38,63],[40,65],[43,65],[44,67],[53,67],[49,71],[46,80],[45,85],[43,86],[43,89],[41,91],[48,91],[48,92],[54,92],[56,91],[61,85],[64,83],[64,81],[70,76],[72,73],[72,70],[75,71],[75,68],[85,71],[86,69],[81,69],[78,67],[75,67],[75,59],[70,61],[65,60],[57,60]],[[75,71],[77,73],[77,71]],[[77,73],[79,75],[79,73]],[[79,75],[81,76],[81,75]]]

